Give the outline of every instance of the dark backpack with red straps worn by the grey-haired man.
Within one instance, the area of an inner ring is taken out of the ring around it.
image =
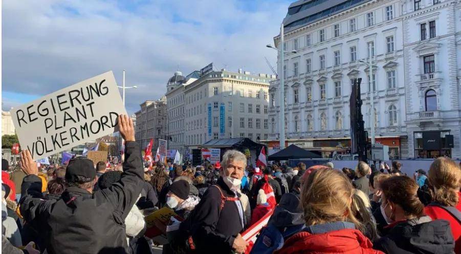
[[[223,210],[224,204],[226,201],[237,201],[239,200],[238,197],[225,197],[223,194],[223,191],[221,190],[221,187],[217,185],[212,185],[211,187],[216,187],[219,191],[219,194],[221,194],[221,204],[219,205],[219,215],[218,218],[221,216],[221,211]],[[192,235],[190,232],[191,228],[191,217],[189,216],[185,221],[182,223],[186,223],[187,225],[187,230],[179,230],[180,232],[178,235],[175,235],[174,239],[169,243],[171,249],[173,250],[173,253],[176,254],[192,254],[196,253],[195,249],[195,244],[192,239]]]

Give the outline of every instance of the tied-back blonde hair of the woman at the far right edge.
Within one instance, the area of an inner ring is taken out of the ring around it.
[[[427,174],[432,200],[447,206],[456,206],[461,187],[461,169],[456,163],[445,157],[434,160]]]

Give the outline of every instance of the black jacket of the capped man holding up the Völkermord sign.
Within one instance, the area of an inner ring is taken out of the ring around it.
[[[42,200],[41,180],[24,178],[20,212],[46,239],[49,254],[128,252],[124,220],[143,188],[141,150],[126,142],[119,182],[93,194],[69,187],[58,200]]]

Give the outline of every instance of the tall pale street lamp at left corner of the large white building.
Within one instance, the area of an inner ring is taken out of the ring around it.
[[[267,44],[266,47],[274,49],[280,53],[280,61],[279,61],[279,76],[280,76],[280,150],[285,148],[285,103],[284,103],[284,85],[285,85],[285,77],[283,73],[283,63],[285,57],[285,51],[283,49],[284,38],[283,38],[283,22],[280,24],[280,49],[275,48],[271,44]],[[296,50],[292,50],[291,53],[298,53]]]

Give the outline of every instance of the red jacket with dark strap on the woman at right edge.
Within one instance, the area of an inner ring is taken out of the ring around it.
[[[458,196],[459,199],[456,209],[461,211],[461,192],[458,192]],[[424,213],[433,220],[443,219],[450,222],[451,233],[453,234],[453,239],[455,240],[455,253],[461,253],[461,223],[445,209],[435,205],[428,205],[424,207]]]

